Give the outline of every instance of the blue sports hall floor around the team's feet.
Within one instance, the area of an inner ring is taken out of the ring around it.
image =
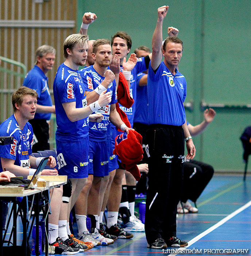
[[[148,249],[144,232],[134,232],[132,239],[118,239],[112,245],[77,255],[251,255],[251,176],[244,182],[241,175],[215,174],[197,200],[197,207],[197,214],[179,214],[177,218],[177,237],[189,241],[186,248]],[[77,233],[75,228],[76,224]],[[20,220],[18,229],[20,244]]]

